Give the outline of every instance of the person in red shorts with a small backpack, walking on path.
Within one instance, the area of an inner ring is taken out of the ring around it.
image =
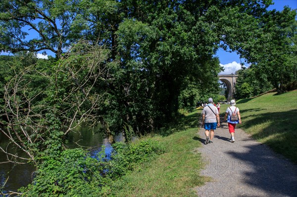
[[[235,142],[235,139],[234,139],[235,126],[238,123],[241,124],[242,121],[241,121],[239,109],[238,107],[235,107],[236,105],[235,100],[231,100],[230,105],[231,107],[228,107],[226,110],[224,121],[226,121],[226,118],[228,117],[227,122],[228,122],[229,133],[231,134],[231,142]]]

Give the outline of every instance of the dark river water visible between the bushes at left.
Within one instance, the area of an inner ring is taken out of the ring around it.
[[[97,157],[97,154],[101,151],[102,145],[105,146],[105,154],[107,157],[110,156],[112,151],[110,143],[104,138],[103,134],[95,133],[88,127],[81,127],[79,130],[71,132],[68,136],[68,141],[69,143],[66,144],[68,148],[76,148],[78,145],[85,148],[92,147],[90,150],[91,157]],[[123,135],[116,135],[115,141],[123,141]],[[7,143],[8,140],[0,133],[0,146],[5,148]],[[25,157],[23,153],[18,154],[19,156]],[[6,161],[6,155],[0,151],[0,186],[7,180],[3,191],[16,192],[19,188],[25,187],[32,182],[32,173],[35,171],[33,165],[1,163],[4,161]]]

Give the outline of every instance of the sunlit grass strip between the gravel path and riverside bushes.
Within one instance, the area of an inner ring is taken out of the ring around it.
[[[165,147],[156,156],[116,183],[117,197],[196,197],[194,188],[209,178],[199,176],[202,167],[198,147],[198,114],[188,115],[178,126],[150,136]]]

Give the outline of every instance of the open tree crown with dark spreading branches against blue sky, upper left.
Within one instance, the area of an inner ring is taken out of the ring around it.
[[[71,11],[75,6],[78,6],[75,1],[68,0],[2,0],[0,50],[43,51],[44,54],[50,50],[60,58],[63,49],[69,48],[77,35],[87,29],[86,24],[75,25],[76,14]],[[27,29],[38,37],[28,39]]]

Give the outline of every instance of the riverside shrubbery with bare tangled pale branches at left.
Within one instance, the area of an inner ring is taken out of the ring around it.
[[[6,107],[1,109],[5,128],[0,127],[0,131],[12,142],[9,146],[18,147],[29,156],[27,159],[37,162],[36,157],[62,149],[74,122],[92,125],[102,121],[97,113],[105,91],[94,86],[105,83],[101,76],[113,66],[105,62],[108,52],[102,46],[80,42],[58,62],[15,70],[15,76],[4,86]]]

